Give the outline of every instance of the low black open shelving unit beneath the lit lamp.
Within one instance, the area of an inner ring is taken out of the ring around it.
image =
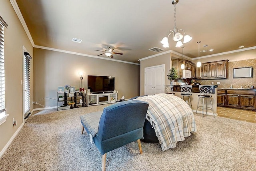
[[[59,100],[59,96],[62,96],[63,100]],[[58,97],[58,110],[73,109],[80,105],[80,99],[82,98],[82,107],[84,107],[84,94],[83,93],[57,93]]]

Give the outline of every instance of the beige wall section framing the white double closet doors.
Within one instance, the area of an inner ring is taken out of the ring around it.
[[[140,95],[144,95],[145,68],[165,64],[165,75],[167,75],[169,73],[170,66],[172,66],[171,56],[172,54],[164,54],[140,61]],[[170,80],[168,80],[167,76],[164,78],[164,82],[165,84],[170,84]]]

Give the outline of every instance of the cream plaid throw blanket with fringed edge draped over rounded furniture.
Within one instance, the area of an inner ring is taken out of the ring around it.
[[[138,97],[149,103],[146,119],[156,131],[162,150],[176,147],[177,141],[196,132],[194,113],[180,97],[172,94],[155,94]]]

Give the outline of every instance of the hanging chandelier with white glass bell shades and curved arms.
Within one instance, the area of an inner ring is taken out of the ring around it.
[[[182,42],[180,40],[182,40],[183,35],[179,32],[179,31],[183,31],[184,32],[184,38],[183,38],[183,43],[187,43],[190,40],[192,40],[192,37],[186,35],[185,31],[183,29],[179,29],[176,27],[176,4],[179,2],[179,0],[172,0],[172,4],[174,5],[174,28],[173,30],[169,30],[167,32],[166,37],[164,37],[161,41],[161,44],[163,44],[162,46],[164,48],[169,48],[169,42],[168,42],[168,38],[170,36],[170,34],[172,34],[172,39],[174,41],[177,42],[175,47],[180,47],[183,46]]]

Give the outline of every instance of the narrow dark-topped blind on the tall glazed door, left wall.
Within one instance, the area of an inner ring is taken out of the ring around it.
[[[30,112],[30,59],[28,52],[24,52],[24,114]]]

